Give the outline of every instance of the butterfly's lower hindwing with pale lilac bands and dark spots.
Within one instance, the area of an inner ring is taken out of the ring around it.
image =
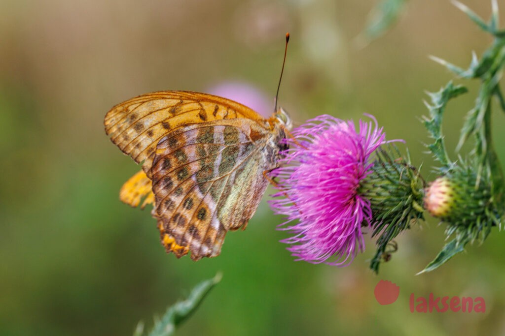
[[[162,138],[151,168],[162,235],[188,247],[195,260],[218,255],[226,232],[245,226],[258,207],[269,136],[257,122],[235,119],[184,126]]]

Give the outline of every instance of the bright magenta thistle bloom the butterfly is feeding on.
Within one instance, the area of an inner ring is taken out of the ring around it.
[[[356,129],[350,120],[322,115],[288,140],[284,167],[274,173],[279,198],[270,205],[287,216],[280,229],[294,235],[282,242],[297,260],[346,265],[364,250],[362,227],[372,223],[372,209],[360,184],[371,173],[371,155],[385,143],[370,117],[373,122],[360,120]]]

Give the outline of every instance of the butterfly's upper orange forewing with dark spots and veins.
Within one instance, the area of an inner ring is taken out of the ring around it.
[[[177,127],[213,120],[263,118],[232,100],[191,91],[160,91],[138,96],[114,106],[105,117],[107,135],[150,177],[156,145]]]

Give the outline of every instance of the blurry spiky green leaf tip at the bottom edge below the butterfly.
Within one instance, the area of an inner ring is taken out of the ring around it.
[[[167,309],[167,312],[161,319],[155,320],[155,325],[153,330],[149,332],[149,336],[173,335],[176,328],[191,316],[209,294],[211,289],[221,281],[221,278],[221,274],[218,273],[214,278],[205,280],[196,285],[186,300],[175,303]],[[141,336],[143,334],[143,329],[143,324],[140,322],[135,329],[134,336]]]

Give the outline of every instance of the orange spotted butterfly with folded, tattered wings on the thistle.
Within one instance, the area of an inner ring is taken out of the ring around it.
[[[245,229],[278,168],[292,127],[280,108],[265,119],[232,100],[160,91],[114,106],[105,131],[142,170],[121,188],[132,206],[153,204],[161,242],[178,258],[220,254],[228,231]]]

